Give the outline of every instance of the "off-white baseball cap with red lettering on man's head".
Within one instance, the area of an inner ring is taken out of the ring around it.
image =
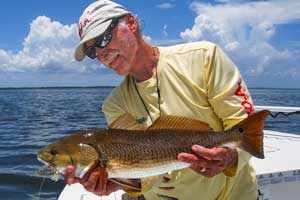
[[[90,4],[83,12],[78,23],[80,42],[76,47],[74,57],[77,61],[84,58],[83,44],[93,39],[108,28],[113,18],[130,13],[125,7],[110,0],[98,0]]]

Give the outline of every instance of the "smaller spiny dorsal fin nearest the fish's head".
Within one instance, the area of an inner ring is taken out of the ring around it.
[[[129,113],[125,113],[115,119],[108,126],[109,129],[145,130],[141,124]]]

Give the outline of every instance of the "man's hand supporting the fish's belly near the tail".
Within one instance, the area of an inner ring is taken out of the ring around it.
[[[178,160],[192,164],[191,168],[203,176],[213,177],[236,164],[238,153],[236,148],[205,148],[192,146],[194,154],[180,153]]]

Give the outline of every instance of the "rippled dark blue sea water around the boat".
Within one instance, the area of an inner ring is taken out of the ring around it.
[[[0,200],[57,199],[63,181],[36,175],[36,153],[74,131],[105,127],[112,88],[0,89]],[[300,106],[300,89],[250,89],[255,105]],[[271,117],[266,129],[300,134],[300,115]]]

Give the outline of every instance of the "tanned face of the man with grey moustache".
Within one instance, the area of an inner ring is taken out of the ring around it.
[[[95,40],[85,43],[92,46]],[[137,51],[137,40],[128,28],[127,22],[119,22],[112,30],[112,38],[104,48],[96,48],[97,59],[119,75],[128,75],[132,69]]]

